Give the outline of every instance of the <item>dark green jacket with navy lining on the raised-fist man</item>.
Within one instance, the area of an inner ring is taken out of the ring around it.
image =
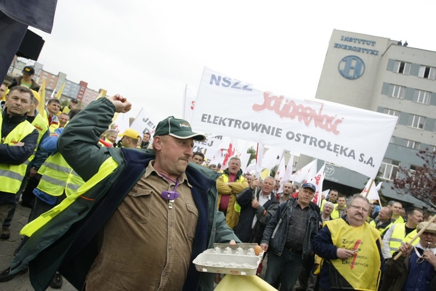
[[[117,161],[119,166],[86,192],[85,198],[77,198],[70,207],[36,231],[14,258],[11,273],[29,262],[32,286],[36,290],[45,290],[56,270],[77,289],[82,288],[98,254],[98,230],[145,172],[148,162],[154,160],[152,150],[97,146],[100,132],[110,125],[114,112],[115,106],[108,99],[94,101],[69,123],[59,139],[59,151],[84,181],[96,174],[100,165],[109,158]],[[186,175],[193,187],[194,199],[198,198],[195,203],[199,208],[192,260],[204,250],[213,248],[214,242],[226,243],[231,239],[240,242],[226,225],[224,215],[215,208],[215,180],[219,174],[189,163]],[[201,243],[202,237],[204,243]],[[195,241],[199,242],[197,246]],[[144,269],[146,267],[144,263]],[[187,280],[184,289],[212,290],[212,274],[192,271],[193,267],[191,263],[188,278],[194,279]]]

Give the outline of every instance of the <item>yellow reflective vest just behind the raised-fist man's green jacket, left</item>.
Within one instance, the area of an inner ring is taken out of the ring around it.
[[[85,183],[63,159],[60,152],[49,156],[39,168],[38,173],[42,177],[36,188],[52,196],[60,196],[65,190],[68,197]]]

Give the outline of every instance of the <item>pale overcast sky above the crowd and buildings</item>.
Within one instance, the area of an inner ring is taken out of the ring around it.
[[[155,121],[181,117],[204,66],[314,98],[334,29],[436,51],[433,1],[58,1],[38,62],[129,99]],[[231,106],[231,104],[229,104]]]

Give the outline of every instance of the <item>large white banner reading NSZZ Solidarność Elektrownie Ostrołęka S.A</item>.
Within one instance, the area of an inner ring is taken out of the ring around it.
[[[208,68],[191,120],[195,130],[292,149],[372,178],[396,123],[395,116],[284,96]]]

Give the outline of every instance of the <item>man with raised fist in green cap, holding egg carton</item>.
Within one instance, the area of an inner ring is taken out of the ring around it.
[[[97,146],[115,112],[130,108],[120,95],[100,98],[65,128],[59,152],[86,183],[57,215],[25,227],[11,275],[29,262],[37,290],[56,270],[79,290],[213,289],[213,274],[192,260],[239,239],[216,209],[219,174],[189,162],[194,140],[206,137],[170,116],[156,126],[153,150]]]

